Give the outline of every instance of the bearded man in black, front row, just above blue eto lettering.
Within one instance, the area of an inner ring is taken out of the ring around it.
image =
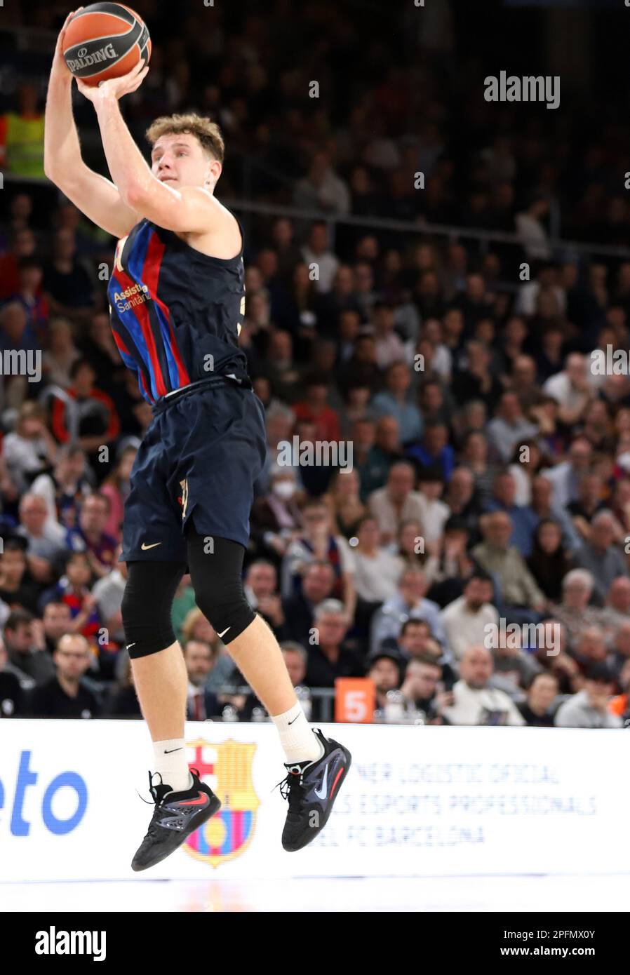
[[[92,661],[85,637],[78,633],[61,637],[53,661],[57,673],[32,691],[33,718],[98,718],[98,699],[82,680]]]

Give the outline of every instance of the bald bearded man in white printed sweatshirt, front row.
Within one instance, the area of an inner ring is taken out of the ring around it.
[[[459,675],[448,703],[441,708],[450,724],[525,724],[508,695],[490,685],[492,654],[485,646],[469,646],[464,651]]]

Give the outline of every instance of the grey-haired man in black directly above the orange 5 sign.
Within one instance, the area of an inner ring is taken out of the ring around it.
[[[324,600],[315,609],[315,633],[307,648],[309,687],[334,687],[337,677],[363,677],[364,665],[345,640],[351,619],[339,600]]]

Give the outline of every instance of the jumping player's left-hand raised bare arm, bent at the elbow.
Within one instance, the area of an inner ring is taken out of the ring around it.
[[[74,13],[68,15],[59,33],[48,85],[44,172],[89,219],[107,233],[125,237],[138,223],[138,214],[124,203],[109,179],[94,173],[81,158],[79,135],[72,115],[72,75],[62,53],[63,34]]]

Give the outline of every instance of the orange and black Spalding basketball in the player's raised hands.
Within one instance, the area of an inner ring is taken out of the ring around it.
[[[148,28],[135,11],[120,3],[93,3],[70,20],[63,57],[75,78],[98,85],[120,78],[151,57]]]

